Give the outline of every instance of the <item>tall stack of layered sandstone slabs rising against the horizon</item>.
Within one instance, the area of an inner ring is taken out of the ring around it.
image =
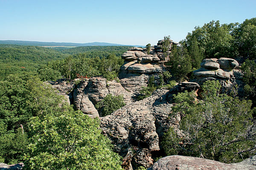
[[[161,71],[160,63],[163,61],[162,51],[163,40],[159,40],[157,45],[150,48],[149,54],[146,48],[133,47],[122,54],[122,59],[125,60],[124,65],[120,68],[124,73],[140,73],[154,74]],[[171,51],[172,44],[177,42],[170,41]]]

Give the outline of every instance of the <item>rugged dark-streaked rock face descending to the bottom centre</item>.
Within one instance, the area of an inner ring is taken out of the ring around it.
[[[152,152],[160,150],[160,138],[170,126],[177,129],[180,117],[169,119],[172,104],[169,90],[160,89],[146,99],[125,105],[101,118],[101,128],[114,144],[114,150],[124,157],[123,166],[153,164]]]

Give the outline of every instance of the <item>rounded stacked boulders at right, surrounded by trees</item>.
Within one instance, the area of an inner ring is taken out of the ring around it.
[[[230,58],[212,58],[204,59],[201,62],[201,68],[194,71],[197,82],[202,84],[209,79],[225,80],[229,82],[235,78],[234,69],[239,66],[235,59]],[[235,71],[236,72],[236,71]]]

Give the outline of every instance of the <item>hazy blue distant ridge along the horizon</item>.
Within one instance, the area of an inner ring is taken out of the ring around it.
[[[73,42],[38,42],[38,41],[19,41],[19,40],[0,40],[0,44],[16,44],[16,45],[32,45],[32,46],[133,46],[144,47],[144,45],[122,45],[108,42],[88,42],[88,43],[73,43]]]

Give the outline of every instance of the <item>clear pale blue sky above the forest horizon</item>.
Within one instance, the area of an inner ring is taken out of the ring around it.
[[[155,45],[253,17],[256,0],[0,0],[0,40]]]

